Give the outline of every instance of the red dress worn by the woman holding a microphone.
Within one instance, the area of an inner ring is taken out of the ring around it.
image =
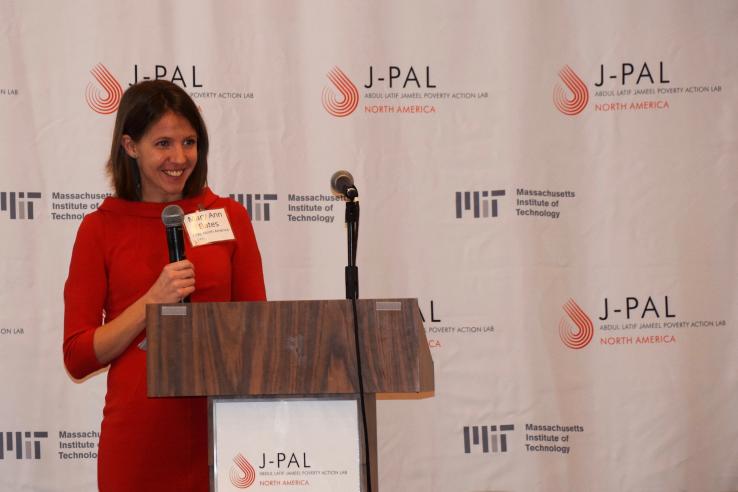
[[[236,237],[186,245],[195,267],[192,302],[264,300],[261,256],[246,210],[207,188],[173,203],[185,213],[225,208]],[[80,224],[64,287],[64,363],[73,377],[103,367],[92,345],[95,328],[145,294],[168,263],[166,205],[107,198]],[[138,348],[144,336],[110,364],[98,486],[103,492],[207,491],[207,400],[146,396],[146,352]]]

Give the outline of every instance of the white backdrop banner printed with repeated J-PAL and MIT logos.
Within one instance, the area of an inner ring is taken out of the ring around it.
[[[96,489],[62,288],[151,79],[272,300],[343,297],[353,173],[361,297],[417,297],[436,371],[378,402],[380,490],[738,490],[735,1],[2,0],[0,32],[0,490]]]

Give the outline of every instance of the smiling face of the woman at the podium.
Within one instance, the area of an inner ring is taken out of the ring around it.
[[[143,201],[164,203],[182,198],[197,164],[197,132],[186,118],[166,112],[138,141],[123,135],[122,145],[138,163]]]

